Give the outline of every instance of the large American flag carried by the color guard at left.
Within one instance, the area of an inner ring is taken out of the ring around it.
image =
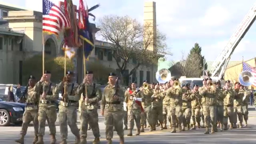
[[[70,27],[69,18],[49,0],[43,0],[43,32],[59,35],[61,29]]]

